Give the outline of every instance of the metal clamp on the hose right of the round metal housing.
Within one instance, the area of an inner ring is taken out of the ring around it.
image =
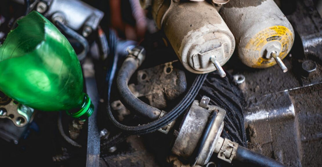
[[[236,154],[237,147],[238,143],[232,142],[225,138],[218,153],[218,158],[228,163],[232,163],[232,159]]]

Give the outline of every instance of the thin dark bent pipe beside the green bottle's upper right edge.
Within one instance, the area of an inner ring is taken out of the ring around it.
[[[90,50],[90,46],[88,44],[88,41],[83,36],[81,36],[79,33],[72,30],[71,28],[67,27],[64,23],[56,21],[55,24],[67,35],[71,36],[72,38],[74,38],[75,40],[77,40],[78,42],[81,43],[81,45],[84,47],[84,49],[80,54],[77,55],[77,57],[80,61],[84,60],[88,51]]]

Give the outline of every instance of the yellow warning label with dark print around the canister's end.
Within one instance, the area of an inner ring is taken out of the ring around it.
[[[272,41],[281,44],[279,57],[283,59],[289,53],[293,45],[293,33],[284,26],[272,26],[257,33],[246,45],[246,49],[258,51],[258,57],[254,57],[253,67],[269,67],[275,64],[274,60],[263,57],[263,47]]]

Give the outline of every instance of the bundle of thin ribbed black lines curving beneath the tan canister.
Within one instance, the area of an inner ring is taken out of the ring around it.
[[[130,135],[152,133],[160,129],[161,127],[168,125],[170,122],[174,121],[175,119],[177,119],[191,105],[197,93],[199,92],[199,89],[204,83],[206,76],[207,74],[197,75],[194,80],[194,83],[189,88],[188,92],[185,94],[185,97],[175,106],[175,108],[173,108],[169,113],[167,113],[162,118],[157,119],[153,122],[150,122],[145,125],[135,126],[135,127],[120,124],[112,114],[109,98],[107,99],[108,117],[116,127],[118,127],[121,131],[128,133]],[[108,91],[108,94],[109,93],[110,91]]]

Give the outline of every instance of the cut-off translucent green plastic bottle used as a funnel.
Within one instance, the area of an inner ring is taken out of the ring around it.
[[[81,65],[65,36],[36,11],[17,23],[0,46],[0,90],[36,110],[89,117],[94,106],[83,92]]]

